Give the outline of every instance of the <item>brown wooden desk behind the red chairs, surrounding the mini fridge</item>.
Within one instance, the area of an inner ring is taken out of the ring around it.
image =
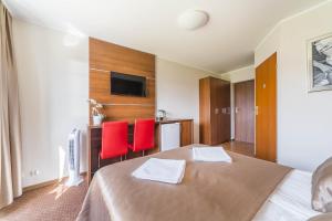
[[[146,155],[155,154],[159,151],[160,140],[160,125],[163,124],[180,124],[180,147],[191,145],[194,143],[194,120],[193,119],[165,119],[156,122],[155,126],[155,148],[146,152]],[[129,124],[128,128],[128,141],[133,140],[133,124]],[[89,149],[89,170],[87,180],[91,181],[93,175],[98,170],[98,152],[102,147],[102,127],[101,126],[87,126],[87,149]],[[129,151],[127,159],[141,157],[142,152]],[[118,158],[105,159],[101,161],[101,167],[118,162]]]

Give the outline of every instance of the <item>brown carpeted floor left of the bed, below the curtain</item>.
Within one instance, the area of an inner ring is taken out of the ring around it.
[[[0,210],[1,221],[73,221],[79,214],[87,182],[68,188],[63,182],[25,192]]]

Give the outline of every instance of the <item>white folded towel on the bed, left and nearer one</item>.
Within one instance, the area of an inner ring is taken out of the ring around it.
[[[185,175],[186,160],[151,158],[132,176],[138,179],[179,183]]]

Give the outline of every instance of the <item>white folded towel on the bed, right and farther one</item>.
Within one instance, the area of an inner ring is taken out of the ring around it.
[[[231,162],[231,158],[222,147],[194,147],[193,159],[195,161]]]

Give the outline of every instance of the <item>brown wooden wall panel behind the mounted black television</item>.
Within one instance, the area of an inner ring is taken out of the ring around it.
[[[155,55],[90,38],[89,97],[104,105],[107,120],[155,117]],[[145,76],[147,96],[111,95],[111,72]]]

